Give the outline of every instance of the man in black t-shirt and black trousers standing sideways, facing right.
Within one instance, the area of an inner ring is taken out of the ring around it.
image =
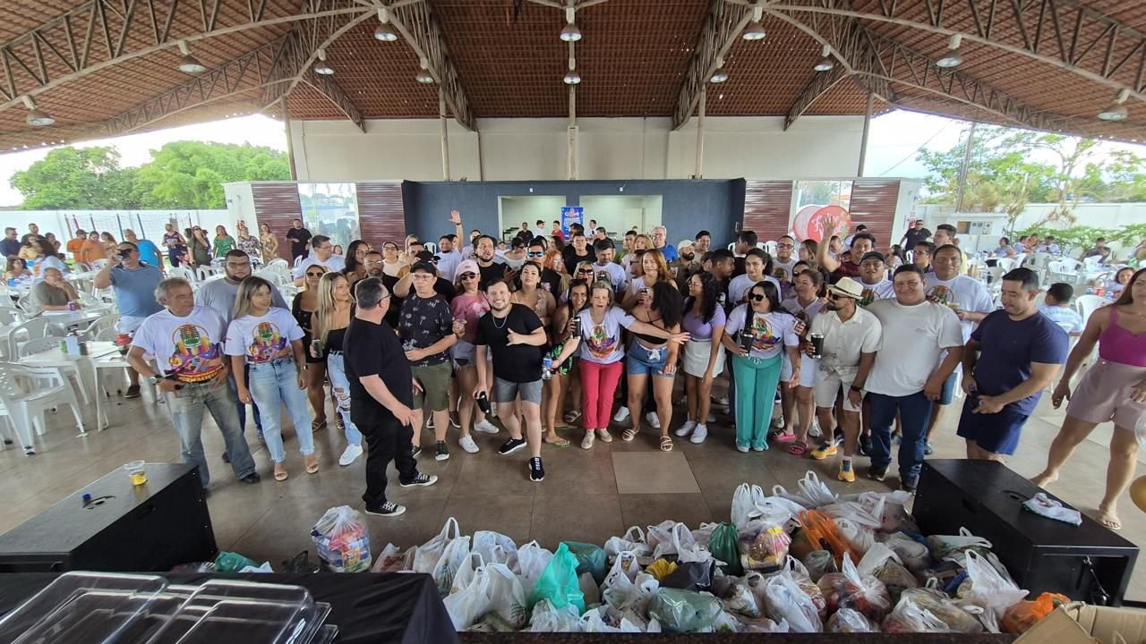
[[[438,477],[418,472],[411,439],[414,430],[414,379],[402,344],[394,329],[383,321],[390,305],[390,291],[377,277],[354,285],[358,307],[346,328],[343,345],[354,347],[344,354],[351,385],[351,419],[367,441],[366,501],[368,515],[397,517],[405,505],[386,501],[386,466],[398,461],[398,481],[402,487],[429,486]]]

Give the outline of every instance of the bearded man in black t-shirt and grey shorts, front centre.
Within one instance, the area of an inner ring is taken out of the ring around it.
[[[529,434],[529,480],[541,482],[545,470],[541,466],[541,346],[545,344],[545,329],[541,319],[529,307],[510,303],[509,284],[494,280],[486,290],[489,313],[478,319],[477,339],[478,386],[474,398],[489,395],[490,384],[502,425],[510,438],[499,449],[502,456],[525,447],[521,425],[517,419],[513,401],[521,396],[521,413]],[[494,372],[488,374],[486,351],[493,352]]]

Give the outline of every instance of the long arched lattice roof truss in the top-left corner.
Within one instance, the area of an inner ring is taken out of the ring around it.
[[[213,1],[218,5],[222,0]],[[374,11],[354,2],[321,5],[296,15],[264,18],[265,0],[246,2],[245,9],[237,13],[220,13],[210,7],[204,13],[198,2],[190,0],[89,0],[0,44],[0,111],[22,104],[22,96],[37,96],[97,71],[176,47],[180,40],[194,42],[277,24]],[[181,22],[206,24],[211,29],[181,32],[173,28]],[[60,65],[65,73],[53,71]]]

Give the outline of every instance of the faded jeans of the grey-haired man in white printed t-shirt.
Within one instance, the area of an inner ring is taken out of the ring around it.
[[[199,432],[203,429],[203,410],[206,409],[214,418],[215,425],[222,432],[227,442],[227,455],[235,476],[243,478],[254,473],[254,460],[243,440],[243,431],[235,413],[235,394],[230,387],[203,383],[183,385],[183,388],[164,394],[171,422],[179,433],[179,456],[183,463],[191,463],[199,469],[203,487],[211,482],[207,461],[203,455],[203,441]]]

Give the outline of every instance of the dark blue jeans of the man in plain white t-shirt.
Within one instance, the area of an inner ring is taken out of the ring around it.
[[[871,403],[871,465],[887,468],[892,463],[892,427],[895,425],[895,413],[900,411],[903,422],[900,478],[918,477],[924,463],[932,401],[924,392],[901,396],[868,392],[868,402]]]

